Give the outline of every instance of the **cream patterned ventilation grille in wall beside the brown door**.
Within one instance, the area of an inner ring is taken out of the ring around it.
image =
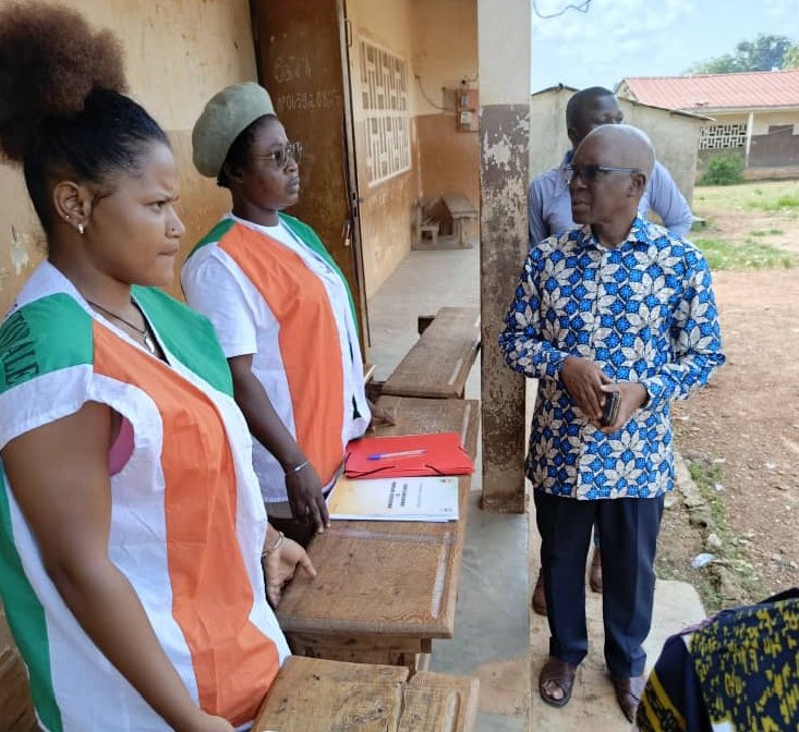
[[[359,51],[366,175],[368,184],[375,185],[411,169],[408,63],[363,39]]]

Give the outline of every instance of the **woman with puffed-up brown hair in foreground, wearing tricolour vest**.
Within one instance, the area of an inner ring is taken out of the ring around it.
[[[299,545],[267,526],[213,328],[160,290],[175,162],[75,12],[0,13],[0,152],[48,255],[0,327],[0,591],[48,732],[246,729],[289,649]]]

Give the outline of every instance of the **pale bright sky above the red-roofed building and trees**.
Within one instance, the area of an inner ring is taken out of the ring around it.
[[[542,15],[583,0],[535,0]],[[532,4],[532,0],[531,0]],[[676,76],[760,33],[799,44],[799,0],[592,0],[542,20],[532,11],[531,88],[613,88],[625,76]]]

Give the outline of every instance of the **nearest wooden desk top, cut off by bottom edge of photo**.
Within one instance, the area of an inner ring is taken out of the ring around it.
[[[471,732],[476,679],[292,656],[252,732]]]

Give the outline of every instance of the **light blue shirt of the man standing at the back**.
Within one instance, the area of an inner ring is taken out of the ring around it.
[[[571,162],[573,151],[569,150],[557,168],[536,175],[528,190],[528,227],[530,246],[543,242],[547,236],[561,234],[574,225],[571,218],[571,195],[566,182],[566,166]],[[654,211],[670,232],[686,236],[691,229],[693,215],[671,174],[655,160],[652,176],[638,204],[638,210],[645,217]]]

